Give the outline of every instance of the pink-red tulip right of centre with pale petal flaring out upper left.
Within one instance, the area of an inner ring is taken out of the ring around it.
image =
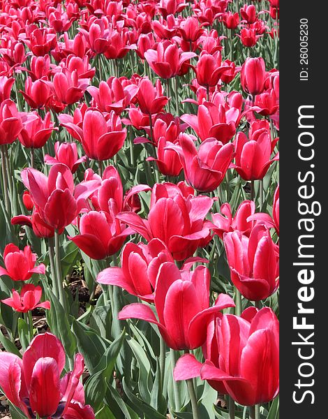
[[[207,138],[197,150],[193,138],[187,134],[179,135],[179,143],[180,147],[174,146],[174,150],[180,156],[188,184],[196,191],[214,191],[223,181],[232,161],[232,143],[223,145],[215,138]]]

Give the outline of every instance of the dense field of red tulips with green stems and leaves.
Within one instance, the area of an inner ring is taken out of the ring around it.
[[[0,417],[278,419],[278,0],[0,6]]]

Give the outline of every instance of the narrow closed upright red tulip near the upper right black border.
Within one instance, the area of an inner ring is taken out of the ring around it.
[[[265,63],[262,57],[246,58],[240,74],[241,86],[246,93],[253,96],[262,93],[266,77]]]

